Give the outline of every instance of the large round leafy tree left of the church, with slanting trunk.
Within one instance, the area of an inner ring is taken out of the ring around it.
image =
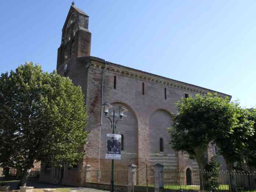
[[[86,124],[84,95],[69,78],[33,63],[1,74],[0,165],[25,170],[19,186],[35,161],[61,166],[81,159]]]

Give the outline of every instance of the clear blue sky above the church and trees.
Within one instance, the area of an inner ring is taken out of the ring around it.
[[[56,69],[71,0],[0,5],[0,72],[25,61]],[[256,1],[75,0],[91,55],[232,95],[256,106]]]

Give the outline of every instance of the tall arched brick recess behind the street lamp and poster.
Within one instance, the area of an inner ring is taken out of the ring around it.
[[[112,109],[115,110],[115,114],[118,115],[118,107],[124,106],[127,111],[124,113],[123,121],[118,121],[115,129],[115,134],[123,135],[124,137],[124,150],[121,152],[121,159],[131,160],[131,163],[136,163],[135,158],[138,152],[138,120],[135,111],[128,106],[128,104],[121,102],[111,103]],[[110,109],[110,113],[113,111]],[[111,118],[112,120],[112,118]],[[105,159],[106,154],[106,134],[112,134],[110,120],[103,117],[101,127],[101,159]]]

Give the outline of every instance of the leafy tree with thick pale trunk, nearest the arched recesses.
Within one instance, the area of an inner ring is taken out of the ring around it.
[[[237,104],[230,103],[228,97],[208,93],[182,98],[177,110],[170,128],[170,144],[177,151],[187,152],[191,159],[196,159],[199,169],[205,170],[209,143],[216,136],[232,132],[238,124]]]

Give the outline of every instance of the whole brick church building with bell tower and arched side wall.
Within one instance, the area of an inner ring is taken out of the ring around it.
[[[123,137],[121,160],[115,160],[115,168],[160,163],[174,170],[198,169],[188,154],[171,148],[167,128],[172,124],[171,113],[177,113],[175,103],[181,97],[216,91],[90,56],[88,24],[89,16],[72,4],[62,29],[57,58],[58,73],[80,85],[85,95],[89,116],[86,130],[90,131],[88,144],[82,149],[86,155],[71,169],[46,168],[42,164],[40,181],[82,186],[86,166],[94,170],[110,169],[111,160],[105,159],[105,155],[106,134],[111,133],[111,127],[107,118],[101,118],[101,102],[110,102],[114,107],[122,105],[128,110],[127,117],[115,129]],[[215,147],[208,153],[214,154]],[[223,162],[223,158],[220,160]]]

